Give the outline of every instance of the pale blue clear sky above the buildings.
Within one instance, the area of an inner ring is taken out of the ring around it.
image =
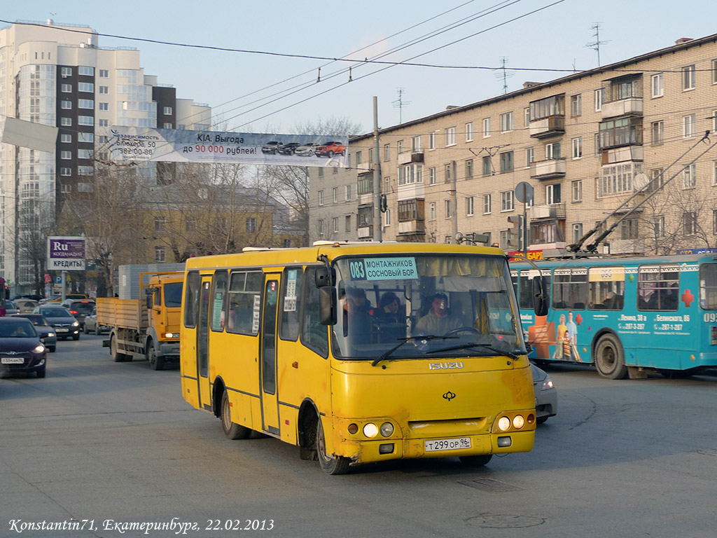
[[[178,98],[212,106],[222,130],[294,133],[307,123],[341,119],[368,133],[374,128],[374,96],[379,127],[386,128],[448,105],[501,95],[506,86],[511,92],[528,80],[554,80],[670,47],[681,37],[717,32],[717,4],[680,9],[686,4],[0,0],[0,19],[53,19],[55,24],[87,25],[100,34],[244,51],[99,38],[100,47],[138,48],[146,75],[174,85]],[[7,25],[0,22],[0,27]],[[597,41],[602,42],[600,63],[589,46]],[[355,61],[330,60],[342,57]],[[389,63],[361,61],[366,59]]]

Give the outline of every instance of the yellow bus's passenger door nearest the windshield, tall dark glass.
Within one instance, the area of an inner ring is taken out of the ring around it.
[[[262,398],[262,429],[279,434],[279,397],[276,382],[277,302],[281,273],[265,276],[262,306],[260,395]]]

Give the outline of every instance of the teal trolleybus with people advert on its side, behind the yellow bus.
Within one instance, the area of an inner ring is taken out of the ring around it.
[[[547,316],[533,311],[538,272]],[[717,367],[717,255],[511,263],[511,276],[538,362],[594,364],[609,379]]]

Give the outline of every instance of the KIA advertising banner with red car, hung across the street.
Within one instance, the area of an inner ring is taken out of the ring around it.
[[[103,132],[105,131],[105,132]],[[348,167],[348,136],[98,128],[113,161]]]

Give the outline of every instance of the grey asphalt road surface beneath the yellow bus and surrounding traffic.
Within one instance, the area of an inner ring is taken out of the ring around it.
[[[112,362],[102,338],[60,341],[45,379],[0,379],[0,537],[717,534],[714,376],[552,367],[559,411],[531,453],[328,476],[278,440],[225,439],[178,370]]]

